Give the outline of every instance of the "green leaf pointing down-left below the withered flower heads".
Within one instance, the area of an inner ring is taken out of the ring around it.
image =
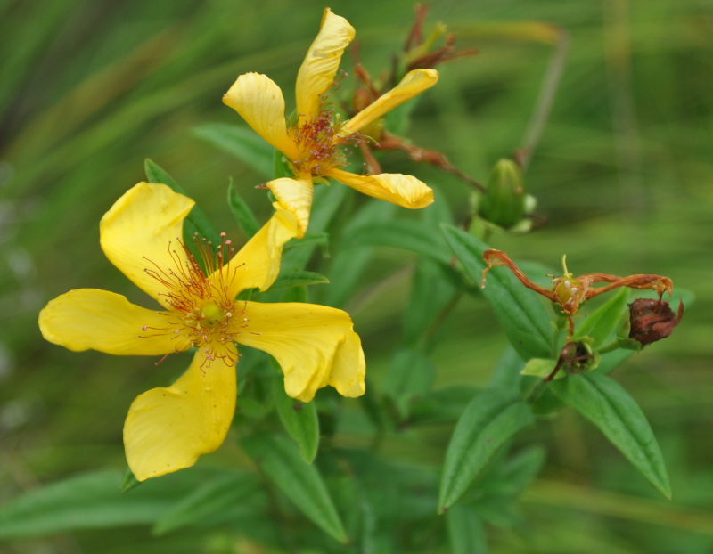
[[[438,511],[455,504],[502,444],[535,422],[520,395],[491,388],[476,395],[455,425],[443,462]]]

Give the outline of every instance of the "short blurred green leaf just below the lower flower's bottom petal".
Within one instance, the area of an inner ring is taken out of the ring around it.
[[[167,534],[204,517],[222,513],[255,494],[258,494],[258,483],[246,472],[211,479],[160,517],[153,525],[152,533]]]

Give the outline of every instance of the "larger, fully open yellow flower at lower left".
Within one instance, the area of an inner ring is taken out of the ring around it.
[[[216,257],[203,242],[204,272],[177,238],[193,203],[165,184],[139,183],[102,217],[106,257],[158,300],[159,311],[105,290],[78,289],[39,314],[43,336],[70,350],[166,355],[196,348],[176,383],[131,404],[124,444],[139,481],[188,468],[223,443],[235,408],[235,343],[275,356],[293,398],[309,402],[327,385],[345,396],[365,391],[364,353],[348,314],[235,300],[243,289],[265,290],[275,281],[283,244],[297,232],[294,216],[278,208],[233,257],[225,236]]]

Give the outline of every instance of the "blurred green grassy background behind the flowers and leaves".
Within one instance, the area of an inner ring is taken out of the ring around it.
[[[366,68],[388,68],[412,24],[412,4],[330,6],[356,28]],[[266,220],[266,193],[252,188],[265,179],[193,129],[242,123],[220,99],[246,71],[269,75],[293,106],[294,78],[323,9],[314,0],[0,3],[1,502],[79,470],[124,467],[129,403],[165,384],[175,368],[50,345],[37,312],[81,287],[148,306],[98,242],[99,219],[144,179],[146,157],[218,229],[237,233],[225,205],[228,175]],[[713,323],[705,315],[713,305],[713,7],[708,0],[444,0],[430,4],[428,23],[438,20],[455,31],[458,46],[480,53],[439,68],[409,138],[443,151],[479,181],[520,145],[553,58],[553,45],[512,23],[542,21],[570,35],[551,118],[526,175],[549,224],[524,237],[498,235],[493,246],[554,268],[566,253],[575,274],[660,273],[696,295],[672,338],[615,374],[652,423],[674,500],[657,498],[591,425],[565,410],[529,435],[547,446],[545,469],[520,501],[529,525],[493,529],[493,551],[713,551]],[[349,77],[342,87],[351,84]],[[437,185],[456,218],[464,216],[470,190],[463,182],[414,167],[403,154],[383,164]],[[381,250],[350,309],[377,381],[400,333],[408,275],[378,283],[413,259]],[[431,356],[436,387],[485,383],[504,345],[489,307],[464,299]],[[229,443],[204,462],[242,460]],[[385,450],[408,456],[409,448],[393,437]],[[441,455],[412,452],[430,461]],[[130,527],[12,542],[0,551],[201,551],[193,539],[185,532],[152,539],[147,527]]]

